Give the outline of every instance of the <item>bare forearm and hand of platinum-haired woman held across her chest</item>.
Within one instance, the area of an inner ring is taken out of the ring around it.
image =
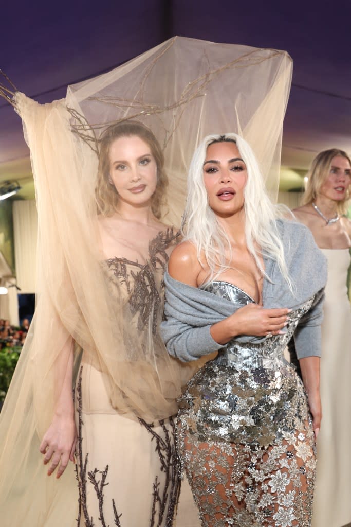
[[[226,344],[237,335],[264,337],[279,335],[289,321],[289,309],[264,309],[257,304],[240,307],[233,315],[214,324],[210,333],[218,344]]]

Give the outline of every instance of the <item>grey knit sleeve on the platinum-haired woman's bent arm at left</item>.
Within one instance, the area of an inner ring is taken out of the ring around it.
[[[194,327],[168,316],[161,324],[161,336],[169,355],[189,362],[216,352],[220,344],[212,338],[211,326]]]

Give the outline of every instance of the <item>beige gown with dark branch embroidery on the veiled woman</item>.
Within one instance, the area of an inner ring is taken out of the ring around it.
[[[128,299],[128,323],[141,345],[150,338],[155,306],[161,310],[158,319],[162,315],[164,249],[173,239],[173,230],[159,233],[149,243],[150,259],[143,264],[124,258],[104,263],[112,298],[118,299],[121,291]],[[152,338],[161,339],[156,329]],[[130,382],[138,379],[131,377]],[[83,352],[75,397],[77,527],[200,527],[188,484],[179,489],[176,416],[154,423],[128,418],[112,406],[106,385],[104,374]]]

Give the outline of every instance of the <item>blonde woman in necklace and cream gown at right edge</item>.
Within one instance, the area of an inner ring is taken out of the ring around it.
[[[320,395],[323,426],[317,441],[315,527],[351,522],[351,307],[347,298],[351,221],[351,160],[343,150],[320,152],[307,174],[303,206],[296,218],[311,231],[328,260],[322,324]]]

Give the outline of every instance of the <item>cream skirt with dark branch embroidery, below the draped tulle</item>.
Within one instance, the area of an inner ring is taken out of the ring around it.
[[[101,372],[82,363],[76,383],[78,527],[199,527],[189,486],[180,490],[175,418],[134,421],[111,406]]]

